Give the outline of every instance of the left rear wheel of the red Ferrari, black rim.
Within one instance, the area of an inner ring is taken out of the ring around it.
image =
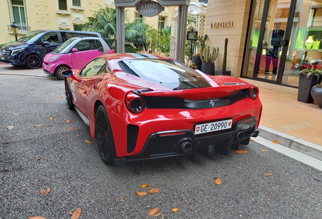
[[[102,161],[106,164],[114,164],[116,158],[114,137],[103,105],[99,105],[96,110],[95,137]]]

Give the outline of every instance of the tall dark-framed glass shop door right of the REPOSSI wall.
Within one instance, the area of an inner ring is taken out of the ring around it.
[[[287,55],[292,29],[290,20],[294,16],[295,4],[295,0],[256,1],[243,76],[281,83],[286,61],[289,61]]]

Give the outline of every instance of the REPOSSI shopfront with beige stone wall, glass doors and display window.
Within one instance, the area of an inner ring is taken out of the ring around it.
[[[322,68],[322,0],[209,0],[206,33],[220,48],[216,69],[228,38],[236,77],[298,87],[301,69]]]

